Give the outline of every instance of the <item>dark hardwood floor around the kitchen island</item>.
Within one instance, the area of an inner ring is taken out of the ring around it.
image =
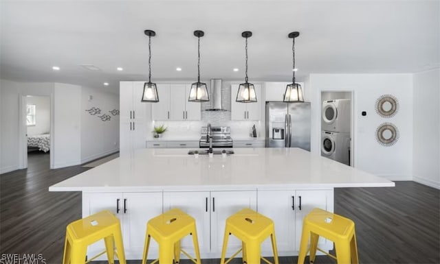
[[[30,153],[28,166],[0,176],[0,263],[5,253],[41,253],[46,263],[61,263],[65,227],[81,217],[81,195],[47,188],[87,168],[50,170],[49,154],[41,152]],[[336,189],[335,213],[355,221],[360,263],[440,263],[439,194],[416,182]],[[280,258],[280,263],[296,262],[296,256]],[[335,261],[318,256],[316,263]]]

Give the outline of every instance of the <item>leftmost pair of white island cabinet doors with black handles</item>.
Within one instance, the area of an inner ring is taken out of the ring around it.
[[[83,217],[109,210],[121,221],[122,239],[126,255],[142,259],[146,222],[162,213],[162,192],[151,193],[83,193]],[[102,251],[104,242],[98,241],[87,249],[88,256]],[[151,242],[151,252],[157,254],[157,243]]]

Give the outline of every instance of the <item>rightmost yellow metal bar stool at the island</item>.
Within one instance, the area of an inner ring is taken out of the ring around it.
[[[310,248],[307,243],[310,237]],[[336,256],[318,248],[319,237],[325,237],[335,243]],[[301,235],[298,264],[304,264],[307,251],[310,251],[310,263],[314,263],[316,250],[323,252],[337,263],[359,263],[356,245],[355,223],[346,217],[314,208],[305,218]]]

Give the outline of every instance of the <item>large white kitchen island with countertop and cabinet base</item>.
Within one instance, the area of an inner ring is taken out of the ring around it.
[[[82,191],[83,217],[113,211],[122,222],[127,259],[141,259],[148,219],[173,207],[195,217],[202,258],[219,258],[225,219],[243,207],[272,218],[279,254],[292,256],[298,253],[303,217],[315,207],[333,211],[334,188],[395,185],[303,149],[234,152],[195,158],[187,154],[188,149],[140,149],[49,190]],[[332,247],[326,241],[320,243],[323,248]],[[189,238],[182,241],[182,247],[186,245],[192,248]],[[228,252],[239,245],[230,239]],[[100,246],[103,243],[91,246],[89,253]],[[262,251],[272,255],[270,243],[263,243]],[[150,252],[148,257],[157,254],[154,245]]]

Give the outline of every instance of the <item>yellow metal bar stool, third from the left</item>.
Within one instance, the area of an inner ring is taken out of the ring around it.
[[[240,239],[242,248],[232,254],[230,259],[225,261],[229,235],[234,235]],[[275,264],[278,264],[274,221],[249,208],[242,209],[234,215],[231,215],[226,219],[225,237],[223,238],[223,250],[221,251],[220,263],[228,264],[241,251],[243,251],[243,263],[256,264],[261,262],[260,259],[263,259],[266,263],[270,263],[270,261],[261,256],[261,243],[269,236],[272,240]]]

